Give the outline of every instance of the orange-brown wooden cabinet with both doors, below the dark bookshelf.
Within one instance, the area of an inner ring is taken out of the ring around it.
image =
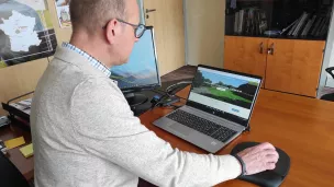
[[[224,68],[260,75],[268,90],[316,96],[324,40],[225,36]]]

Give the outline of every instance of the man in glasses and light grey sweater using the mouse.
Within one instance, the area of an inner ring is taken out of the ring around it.
[[[213,186],[275,168],[269,143],[237,156],[182,152],[133,116],[108,69],[126,62],[141,36],[129,24],[140,22],[136,0],[71,0],[70,14],[70,44],[58,48],[33,100],[37,187],[132,187],[138,177],[158,186]]]

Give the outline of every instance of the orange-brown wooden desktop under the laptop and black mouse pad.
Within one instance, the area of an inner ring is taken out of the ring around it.
[[[179,93],[187,96],[188,90]],[[157,108],[141,116],[142,122],[174,148],[196,153],[205,151],[157,128],[152,122],[170,109]],[[230,153],[243,141],[271,142],[291,156],[283,187],[333,186],[334,103],[261,90],[250,121],[252,131],[241,136],[218,154]],[[253,187],[241,180],[219,186]]]

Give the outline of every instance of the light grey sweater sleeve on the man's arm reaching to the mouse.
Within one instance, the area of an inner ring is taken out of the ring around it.
[[[79,84],[70,101],[73,129],[86,152],[118,164],[158,186],[213,186],[241,174],[231,155],[172,149],[133,116],[110,80]]]

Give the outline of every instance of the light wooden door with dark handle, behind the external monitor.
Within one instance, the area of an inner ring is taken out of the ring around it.
[[[182,0],[144,0],[146,25],[154,26],[160,75],[186,65]]]

